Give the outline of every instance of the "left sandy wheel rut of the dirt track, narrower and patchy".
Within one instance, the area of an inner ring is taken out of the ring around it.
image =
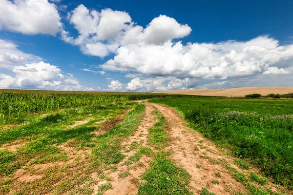
[[[132,155],[134,155],[138,149],[134,150],[127,150],[129,149],[131,143],[133,141],[137,141],[138,143],[142,143],[142,146],[147,146],[147,135],[148,129],[151,128],[154,123],[157,121],[155,116],[152,114],[154,108],[149,104],[146,103],[146,114],[143,117],[140,125],[137,128],[137,131],[134,133],[133,136],[128,137],[123,143],[123,148],[126,148],[126,151],[122,151],[126,158],[116,165],[117,171],[115,172],[106,172],[107,176],[111,178],[112,189],[105,191],[104,195],[135,195],[138,192],[137,184],[141,183],[141,176],[146,169],[149,168],[149,161],[151,160],[150,157],[142,156],[139,162],[135,162],[130,166],[133,167],[137,165],[135,168],[129,169],[129,167],[124,164],[126,160]],[[142,136],[143,135],[143,136]],[[140,166],[139,166],[140,165]],[[123,172],[129,172],[129,175],[125,178],[120,178],[119,174]],[[105,184],[105,180],[101,181],[97,185],[93,186],[94,193],[98,192],[99,186]]]

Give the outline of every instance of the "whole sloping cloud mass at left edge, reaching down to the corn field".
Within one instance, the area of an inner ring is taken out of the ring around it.
[[[55,65],[45,63],[40,57],[23,53],[17,45],[0,39],[0,68],[11,71],[11,75],[0,74],[0,88],[82,90],[93,88],[82,86],[72,74],[63,75]],[[104,71],[99,71],[104,74]]]

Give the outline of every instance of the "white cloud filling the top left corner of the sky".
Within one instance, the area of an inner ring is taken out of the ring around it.
[[[56,5],[47,0],[0,0],[0,29],[55,36],[60,20]]]

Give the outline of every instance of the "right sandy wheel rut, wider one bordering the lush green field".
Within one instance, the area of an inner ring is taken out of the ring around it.
[[[191,175],[189,185],[195,194],[199,194],[205,187],[210,192],[220,195],[246,191],[246,188],[227,173],[225,167],[219,163],[225,160],[225,157],[213,143],[198,132],[191,132],[173,109],[160,104],[153,103],[152,105],[166,117],[170,124],[167,134],[171,143],[166,150],[171,150],[170,157],[174,163]],[[218,177],[217,173],[220,173],[221,177]],[[219,184],[213,184],[213,180],[219,181]]]

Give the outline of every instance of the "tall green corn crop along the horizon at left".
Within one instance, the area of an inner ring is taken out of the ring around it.
[[[94,106],[117,101],[165,98],[168,96],[170,95],[151,93],[1,90],[0,117],[21,116],[38,111],[77,106]]]

